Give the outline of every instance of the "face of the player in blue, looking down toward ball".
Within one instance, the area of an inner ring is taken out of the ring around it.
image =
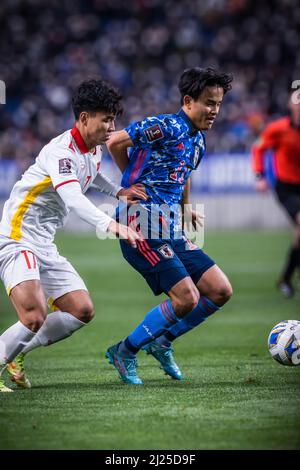
[[[185,106],[188,116],[196,129],[207,130],[212,127],[220,111],[223,96],[224,90],[222,87],[211,86],[204,88],[197,100],[185,97],[190,98],[188,102],[185,101]]]

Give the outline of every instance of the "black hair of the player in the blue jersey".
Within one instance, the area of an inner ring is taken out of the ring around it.
[[[193,67],[186,69],[178,83],[181,94],[181,104],[183,104],[183,97],[186,95],[197,100],[207,86],[217,85],[223,88],[225,94],[228,90],[231,90],[232,80],[233,76],[231,74],[219,72],[213,67],[207,67],[205,69]]]

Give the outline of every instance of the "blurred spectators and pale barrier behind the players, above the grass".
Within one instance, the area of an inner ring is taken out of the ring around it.
[[[250,149],[266,123],[287,112],[300,79],[297,0],[2,0],[2,199],[41,147],[72,127],[71,93],[81,80],[100,74],[121,89],[122,128],[176,112],[178,77],[191,66],[235,78],[193,176],[207,226],[286,226],[273,197],[254,193]],[[103,168],[120,179],[109,156]]]

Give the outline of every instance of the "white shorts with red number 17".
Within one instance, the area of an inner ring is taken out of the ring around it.
[[[0,277],[6,292],[23,281],[41,281],[47,302],[53,302],[74,290],[86,290],[86,285],[71,263],[60,256],[54,244],[45,249],[35,248],[0,235]]]

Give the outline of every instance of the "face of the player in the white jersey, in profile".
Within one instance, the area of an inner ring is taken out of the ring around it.
[[[111,113],[99,111],[88,114],[86,120],[86,135],[88,141],[94,145],[107,142],[115,130],[115,116]]]

